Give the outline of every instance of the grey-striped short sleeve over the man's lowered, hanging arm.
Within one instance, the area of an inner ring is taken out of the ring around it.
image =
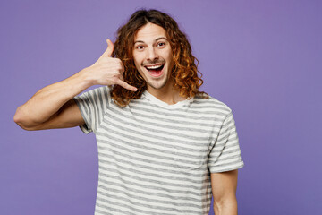
[[[225,116],[212,143],[208,157],[210,173],[230,171],[244,166],[232,112]]]

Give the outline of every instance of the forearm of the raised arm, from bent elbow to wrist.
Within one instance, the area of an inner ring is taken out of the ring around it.
[[[14,121],[23,127],[46,122],[67,101],[92,85],[87,69],[81,70],[62,82],[56,82],[38,90],[31,99],[17,108]]]

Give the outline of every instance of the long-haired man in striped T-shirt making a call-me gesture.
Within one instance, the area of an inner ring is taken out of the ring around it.
[[[200,92],[195,58],[167,14],[140,10],[95,64],[18,107],[26,130],[80,126],[97,137],[95,214],[237,214],[243,161],[233,114]],[[89,90],[93,85],[104,85]]]

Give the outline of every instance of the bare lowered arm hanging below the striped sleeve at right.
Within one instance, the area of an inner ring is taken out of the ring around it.
[[[237,176],[237,169],[222,173],[211,173],[211,189],[216,215],[237,215]]]

